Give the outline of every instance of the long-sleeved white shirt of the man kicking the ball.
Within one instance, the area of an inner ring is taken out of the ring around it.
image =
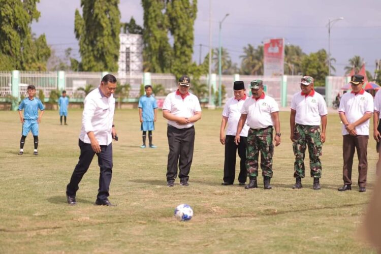
[[[115,98],[102,94],[100,88],[87,94],[82,113],[82,129],[79,139],[90,144],[88,132],[93,132],[100,145],[109,145],[112,142],[111,129],[114,121]]]

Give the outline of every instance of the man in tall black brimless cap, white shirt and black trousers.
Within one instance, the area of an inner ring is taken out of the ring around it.
[[[245,166],[246,161],[246,146],[247,132],[249,126],[244,125],[240,133],[240,142],[238,145],[234,143],[234,138],[237,132],[237,125],[241,117],[241,108],[246,100],[246,89],[243,81],[235,81],[233,85],[234,97],[230,98],[226,103],[221,120],[221,128],[219,130],[219,142],[225,145],[225,163],[224,163],[224,182],[221,185],[231,185],[234,183],[236,173],[236,154],[241,158],[240,171],[238,175],[238,185],[245,185],[247,179],[247,171]],[[224,135],[225,127],[226,136]]]

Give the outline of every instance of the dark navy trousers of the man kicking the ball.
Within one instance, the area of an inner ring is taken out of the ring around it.
[[[84,143],[81,140],[78,142],[81,154],[79,155],[79,161],[73,171],[70,182],[66,187],[66,195],[75,197],[79,188],[78,184],[81,181],[83,175],[90,167],[92,158],[96,154],[91,148],[90,144]],[[109,145],[101,145],[101,152],[98,155],[98,165],[101,169],[99,175],[99,189],[97,199],[99,201],[107,200],[109,195],[109,187],[112,176],[112,143]]]

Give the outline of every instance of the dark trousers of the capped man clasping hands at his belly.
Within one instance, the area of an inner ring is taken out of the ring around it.
[[[180,181],[188,181],[195,145],[195,127],[177,129],[168,125],[167,137],[169,145],[167,181],[174,181],[176,179],[177,165],[180,171]]]

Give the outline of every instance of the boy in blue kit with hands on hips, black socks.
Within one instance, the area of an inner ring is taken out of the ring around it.
[[[34,85],[28,85],[28,97],[21,101],[18,107],[18,114],[20,115],[20,121],[22,123],[22,136],[20,140],[20,152],[19,155],[24,153],[25,138],[31,131],[33,138],[35,140],[35,151],[34,155],[38,155],[37,147],[39,145],[39,123],[41,122],[41,117],[45,112],[45,107],[40,101],[40,99],[35,98],[36,87]],[[38,115],[38,110],[40,109],[40,116]],[[24,110],[24,115],[22,114]]]

